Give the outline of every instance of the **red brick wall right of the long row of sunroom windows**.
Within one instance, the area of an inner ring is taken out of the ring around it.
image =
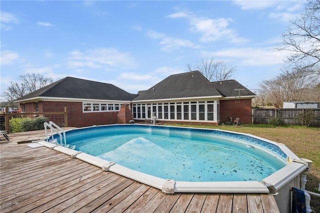
[[[252,122],[251,99],[220,100],[220,123],[240,118],[240,123]]]

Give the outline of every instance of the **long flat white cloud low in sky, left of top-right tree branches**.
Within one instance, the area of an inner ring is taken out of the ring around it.
[[[239,65],[265,66],[282,64],[287,52],[275,51],[269,48],[230,48],[221,51],[203,51],[203,56],[229,58],[229,61],[239,60]]]

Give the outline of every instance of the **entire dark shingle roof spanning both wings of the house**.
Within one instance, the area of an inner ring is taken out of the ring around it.
[[[101,100],[154,100],[205,96],[251,96],[253,92],[236,80],[208,81],[199,71],[173,74],[147,90],[131,94],[109,83],[65,77],[16,99],[61,97]]]

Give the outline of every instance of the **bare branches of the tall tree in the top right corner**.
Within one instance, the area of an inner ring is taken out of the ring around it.
[[[299,64],[305,69],[320,74],[320,0],[308,0],[300,17],[290,21],[291,25],[282,34],[283,46],[278,50],[289,50],[289,65]]]

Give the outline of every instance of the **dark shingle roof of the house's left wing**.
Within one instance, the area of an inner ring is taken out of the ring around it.
[[[75,77],[65,77],[36,91],[28,93],[15,101],[36,97],[62,97],[101,100],[131,100],[137,94],[131,94],[113,84]]]

